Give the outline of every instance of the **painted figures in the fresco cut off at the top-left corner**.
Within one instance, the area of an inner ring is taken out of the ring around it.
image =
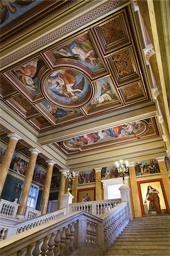
[[[25,7],[27,5],[30,5],[30,3],[34,2],[35,0],[1,0],[0,1],[0,24],[5,22],[5,20],[9,17],[9,12],[14,14],[16,13],[16,6],[18,7]]]

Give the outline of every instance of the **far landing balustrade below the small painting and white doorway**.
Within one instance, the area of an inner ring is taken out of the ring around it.
[[[99,216],[101,214],[104,214],[105,212],[108,212],[108,210],[111,210],[113,207],[116,207],[120,203],[121,199],[110,199],[104,201],[89,201],[86,203],[83,202],[69,204],[69,213],[79,210],[85,210],[88,213]]]

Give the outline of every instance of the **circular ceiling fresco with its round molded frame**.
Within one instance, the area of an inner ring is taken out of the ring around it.
[[[42,93],[52,104],[62,108],[79,108],[92,99],[88,79],[72,69],[57,69],[45,77]]]

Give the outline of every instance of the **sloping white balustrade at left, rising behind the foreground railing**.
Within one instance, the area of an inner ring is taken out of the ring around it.
[[[66,209],[57,210],[57,212],[48,213],[36,218],[31,218],[30,220],[23,221],[16,225],[8,225],[4,223],[0,223],[0,241],[5,240],[11,236],[15,236],[15,234],[19,234],[24,232],[25,230],[29,230],[44,224],[46,222],[56,220],[59,217],[62,217],[66,214]]]

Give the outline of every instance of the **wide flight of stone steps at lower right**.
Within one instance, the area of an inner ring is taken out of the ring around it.
[[[135,218],[105,256],[170,255],[170,215]]]

